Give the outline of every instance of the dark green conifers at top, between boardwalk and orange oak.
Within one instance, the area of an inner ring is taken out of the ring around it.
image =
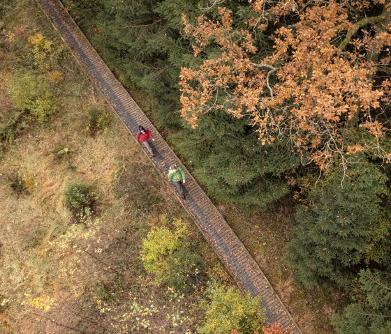
[[[138,86],[155,98],[159,125],[177,128],[179,70],[184,55],[191,54],[189,42],[179,34],[180,17],[181,13],[196,13],[199,1],[95,1],[100,9],[89,19],[89,26],[97,27],[91,40],[103,59],[125,85]],[[87,15],[88,10],[80,10],[88,6],[84,2],[83,6],[76,4],[71,13]],[[86,19],[80,17],[82,22]]]

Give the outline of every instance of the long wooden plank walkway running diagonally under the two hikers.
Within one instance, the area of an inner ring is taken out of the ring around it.
[[[149,157],[154,166],[166,179],[170,165],[183,166],[177,155],[170,149],[153,124],[147,119],[133,98],[115,78],[104,61],[98,55],[89,40],[68,14],[59,0],[36,0],[52,21],[65,43],[71,48],[82,68],[98,86],[109,105],[119,116],[133,137],[138,124],[152,130],[155,142],[151,143],[154,158]],[[147,153],[146,153],[147,154]],[[149,155],[148,155],[149,156]],[[288,310],[281,302],[276,291],[267,280],[256,261],[244,248],[242,242],[230,228],[214,204],[205,195],[200,185],[193,179],[186,167],[186,199],[179,199],[182,206],[193,217],[195,224],[205,236],[223,265],[233,276],[242,291],[251,296],[262,298],[267,323],[278,322],[282,328],[290,328],[291,334],[302,334]],[[172,190],[174,189],[170,185]]]

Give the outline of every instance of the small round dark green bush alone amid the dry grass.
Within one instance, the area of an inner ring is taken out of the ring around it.
[[[78,219],[87,218],[94,211],[96,197],[90,185],[85,183],[70,185],[65,192],[66,206]]]

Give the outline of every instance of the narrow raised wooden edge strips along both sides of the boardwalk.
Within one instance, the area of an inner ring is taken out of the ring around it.
[[[84,70],[84,73],[86,73],[88,75],[88,77],[91,79],[91,82],[93,82],[93,84],[97,87],[98,91],[101,93],[101,95],[105,98],[106,102],[108,103],[108,105],[110,105],[110,108],[112,109],[113,112],[115,112],[115,114],[118,116],[119,120],[121,121],[121,123],[124,124],[125,128],[128,130],[129,134],[133,137],[133,139],[135,138],[135,133],[134,131],[132,132],[131,128],[128,126],[128,124],[126,124],[126,122],[124,121],[124,119],[121,118],[121,114],[119,114],[115,104],[113,103],[112,100],[110,100],[109,96],[107,96],[99,82],[97,82],[96,80],[96,77],[94,77],[94,75],[91,73],[91,71],[89,71],[89,68],[87,68],[86,66],[86,63],[84,63],[82,60],[80,60],[80,56],[78,55],[77,53],[77,50],[75,50],[71,45],[70,43],[68,42],[68,40],[66,40],[66,38],[64,38],[64,33],[62,33],[59,29],[58,26],[56,26],[56,24],[54,23],[53,21],[53,17],[50,15],[50,13],[48,13],[47,11],[47,8],[45,6],[45,4],[47,3],[53,3],[52,6],[55,6],[54,2],[57,4],[57,6],[60,6],[61,7],[61,10],[64,10],[64,13],[66,13],[66,15],[68,16],[68,20],[73,23],[73,26],[72,28],[73,29],[76,29],[78,31],[78,33],[80,34],[80,36],[84,36],[84,33],[81,31],[80,27],[75,24],[75,22],[73,21],[71,15],[68,14],[66,8],[64,7],[64,5],[61,3],[61,1],[59,0],[36,0],[37,3],[40,5],[40,7],[43,9],[43,12],[47,15],[47,17],[50,19],[50,22],[52,22],[52,25],[54,26],[54,29],[56,29],[57,31],[59,31],[60,33],[60,36],[62,38],[62,40],[64,40],[64,43],[66,45],[68,45],[68,47],[70,48],[73,56],[75,56],[75,59],[78,61],[80,67],[82,68],[82,70]],[[103,59],[101,59],[101,56],[98,54],[98,52],[96,52],[95,48],[91,45],[91,43],[89,42],[89,40],[84,36],[85,40],[83,40],[83,43],[85,43],[89,49],[89,51],[93,52],[94,55],[100,59],[101,63],[105,65]],[[106,66],[107,67],[107,66]],[[111,73],[111,71],[110,71]],[[112,75],[112,73],[111,73]],[[112,75],[112,77],[114,77],[114,75]],[[115,77],[114,77],[115,78]],[[117,78],[115,78],[115,80],[117,81],[117,83],[122,87],[122,85],[118,82]],[[123,87],[122,87],[123,88]],[[140,112],[142,112],[142,109],[137,105],[137,103],[135,103],[135,100],[133,100],[133,98],[126,92],[126,98],[129,98],[132,103],[140,110]],[[144,114],[145,116],[145,114]],[[146,117],[146,116],[145,116]],[[159,134],[159,132],[156,130],[156,128],[153,126],[152,123],[149,123],[148,127],[153,130],[152,132],[154,132],[154,134],[158,134],[157,137],[159,137],[159,141],[163,142],[165,144],[165,149],[168,149],[168,151],[170,151],[170,154],[172,156],[174,156],[177,161],[180,161],[179,158],[177,158],[177,155],[174,153],[174,151],[172,151],[172,149],[170,148],[170,146],[168,146],[167,143],[165,143],[165,140],[163,139],[163,137],[161,137],[161,135]],[[156,136],[155,136],[156,137]],[[211,245],[212,249],[214,250],[215,254],[217,255],[217,257],[219,257],[221,263],[226,267],[226,269],[230,272],[231,276],[234,278],[235,282],[237,283],[237,285],[239,286],[240,289],[242,289],[242,291],[244,291],[245,293],[249,293],[253,296],[258,296],[257,292],[258,291],[249,291],[249,289],[246,289],[244,283],[242,282],[242,280],[240,280],[240,278],[238,277],[237,273],[235,273],[235,271],[233,271],[233,269],[227,265],[227,259],[225,257],[223,257],[220,252],[217,252],[216,251],[216,245],[214,245],[210,238],[209,238],[209,235],[207,234],[207,232],[205,231],[204,228],[202,228],[202,226],[198,223],[198,220],[199,220],[199,217],[193,212],[191,211],[191,209],[181,200],[179,199],[179,197],[177,196],[177,193],[175,192],[174,188],[172,187],[172,185],[168,182],[167,180],[167,177],[166,177],[166,174],[165,174],[165,171],[161,168],[158,167],[157,163],[155,160],[153,160],[148,154],[147,152],[143,149],[142,151],[144,151],[145,155],[147,156],[147,158],[152,162],[152,165],[154,165],[154,167],[156,168],[156,170],[158,171],[159,174],[161,174],[163,176],[163,180],[165,180],[165,183],[168,184],[168,187],[169,189],[171,190],[171,192],[173,192],[173,194],[175,195],[175,197],[177,197],[179,203],[184,207],[185,211],[187,213],[189,213],[189,215],[193,218],[194,222],[195,222],[195,225],[198,227],[198,229],[200,229],[202,235],[205,237],[205,239],[208,241],[209,245]],[[212,201],[209,199],[209,197],[207,197],[207,195],[205,194],[205,192],[203,192],[202,188],[200,188],[200,185],[198,185],[198,183],[195,181],[195,179],[193,179],[193,176],[191,176],[191,174],[189,173],[189,171],[186,169],[186,167],[181,163],[184,171],[186,172],[186,175],[188,176],[188,179],[191,179],[193,181],[193,184],[195,185],[196,188],[199,188],[199,191],[203,194],[203,198],[209,203],[209,206],[212,206],[213,208],[215,208],[214,204],[212,203]],[[225,222],[225,219],[223,218],[223,216],[221,215],[221,213],[219,212],[219,210],[216,209],[216,214],[219,216],[219,218]],[[228,223],[226,223],[227,228],[228,229],[228,233],[232,233],[232,234],[235,234],[233,232],[233,230],[229,227]],[[236,235],[235,235],[236,236]],[[242,251],[244,251],[246,253],[246,257],[248,257],[249,259],[252,259],[253,263],[251,263],[251,266],[253,266],[253,269],[258,272],[260,275],[263,276],[263,282],[262,284],[264,285],[267,285],[267,289],[270,289],[270,291],[272,291],[272,297],[276,299],[276,302],[279,303],[278,307],[279,307],[279,311],[283,313],[283,315],[285,315],[288,319],[288,321],[278,321],[283,328],[290,328],[291,329],[291,333],[292,334],[295,334],[295,333],[299,333],[299,334],[302,334],[302,331],[300,330],[299,326],[297,325],[297,323],[295,322],[295,320],[293,319],[293,317],[290,315],[290,313],[288,312],[288,310],[286,309],[286,306],[283,304],[283,302],[281,301],[281,298],[279,298],[278,294],[276,293],[276,291],[274,290],[274,288],[272,287],[272,284],[270,284],[269,280],[267,280],[265,274],[263,273],[262,269],[258,266],[258,264],[256,263],[255,260],[253,260],[253,257],[251,256],[251,254],[249,253],[249,251],[243,246],[243,249]],[[275,302],[274,302],[275,304]],[[275,306],[275,305],[274,305]],[[268,308],[268,305],[265,305],[265,308],[266,308],[266,312],[267,312],[267,308]],[[271,316],[272,317],[272,316]],[[269,322],[272,322],[272,321],[269,321]]]

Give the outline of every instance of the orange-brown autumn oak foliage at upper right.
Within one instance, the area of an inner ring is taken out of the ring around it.
[[[182,68],[182,116],[195,128],[212,109],[236,118],[249,115],[262,144],[288,137],[321,168],[362,150],[387,158],[381,140],[388,130],[382,115],[391,101],[390,82],[375,79],[379,69],[390,70],[391,5],[376,2],[383,6],[380,15],[354,20],[351,6],[358,13],[373,2],[315,0],[308,6],[301,0],[256,0],[251,6],[258,17],[240,29],[225,8],[215,22],[201,16],[192,25],[183,16],[194,56],[209,45],[220,54],[205,56],[196,69]],[[296,23],[274,29],[272,53],[253,61],[258,52],[253,31],[265,31],[282,15],[296,17]],[[355,38],[359,29],[362,38]],[[346,142],[358,119],[361,137]]]

